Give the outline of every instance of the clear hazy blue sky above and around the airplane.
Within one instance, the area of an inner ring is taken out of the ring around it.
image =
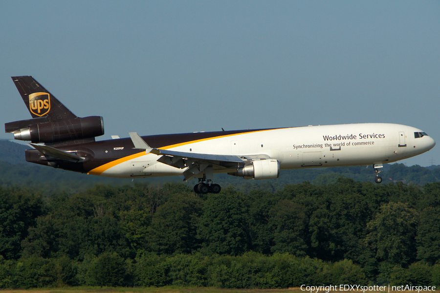
[[[1,1],[1,123],[32,75],[127,137],[383,122],[440,143],[439,1]],[[0,134],[11,139],[12,134]],[[440,147],[402,161],[440,164]]]

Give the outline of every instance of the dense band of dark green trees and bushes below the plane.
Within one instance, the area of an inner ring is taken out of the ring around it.
[[[440,285],[440,183],[0,188],[0,288]]]

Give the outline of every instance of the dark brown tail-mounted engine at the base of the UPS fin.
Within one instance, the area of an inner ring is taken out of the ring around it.
[[[28,120],[32,122],[32,120]],[[20,123],[20,121],[16,122]],[[30,124],[13,131],[14,138],[32,143],[57,143],[68,140],[92,138],[104,134],[104,119],[101,116],[58,120]]]

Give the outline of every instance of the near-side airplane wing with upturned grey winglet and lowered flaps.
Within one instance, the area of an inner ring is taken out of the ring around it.
[[[183,172],[186,181],[195,178],[202,172],[211,173],[213,170],[219,169],[234,171],[238,167],[244,166],[246,162],[269,159],[267,155],[217,155],[152,148],[136,132],[130,132],[130,137],[134,148],[145,149],[146,152],[161,156],[157,162],[180,169],[186,168]]]

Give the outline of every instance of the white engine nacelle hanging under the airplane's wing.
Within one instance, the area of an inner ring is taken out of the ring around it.
[[[229,175],[244,177],[244,179],[275,179],[280,177],[280,162],[278,160],[252,161],[251,164],[237,169]]]

